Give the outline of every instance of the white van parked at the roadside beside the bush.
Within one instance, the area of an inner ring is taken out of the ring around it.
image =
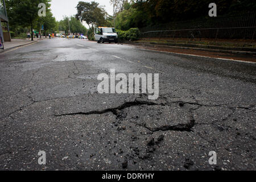
[[[111,27],[94,28],[94,38],[98,43],[118,43],[117,32],[115,31],[115,28]]]

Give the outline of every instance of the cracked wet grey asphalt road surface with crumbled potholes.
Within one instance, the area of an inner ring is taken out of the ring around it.
[[[98,93],[110,69],[159,73],[158,100]],[[1,53],[0,169],[255,170],[255,71],[79,39]]]

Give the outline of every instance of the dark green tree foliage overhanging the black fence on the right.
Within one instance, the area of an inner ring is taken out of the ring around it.
[[[121,1],[122,0],[118,0]],[[113,1],[112,1],[113,2]],[[136,0],[126,2],[116,15],[115,27],[129,30],[131,27],[150,27],[159,24],[206,18],[208,0]],[[217,15],[255,14],[255,0],[216,0]]]

